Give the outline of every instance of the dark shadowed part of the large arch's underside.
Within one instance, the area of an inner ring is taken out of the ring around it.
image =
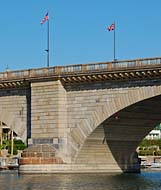
[[[161,122],[161,95],[137,102],[102,123],[106,143],[122,171],[130,171],[141,140]]]

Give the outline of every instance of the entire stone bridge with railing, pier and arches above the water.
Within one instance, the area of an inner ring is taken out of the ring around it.
[[[138,172],[135,150],[161,121],[161,57],[0,73],[0,105],[29,147],[59,158],[26,152],[21,172]]]

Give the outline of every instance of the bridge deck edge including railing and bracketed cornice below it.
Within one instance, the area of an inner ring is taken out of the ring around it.
[[[0,73],[0,88],[26,87],[33,80],[60,79],[65,84],[160,77],[161,57],[78,64]]]

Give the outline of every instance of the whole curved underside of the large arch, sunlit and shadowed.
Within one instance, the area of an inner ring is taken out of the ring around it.
[[[74,163],[100,164],[107,170],[138,170],[135,150],[161,122],[161,95],[132,104],[104,120],[87,137]]]

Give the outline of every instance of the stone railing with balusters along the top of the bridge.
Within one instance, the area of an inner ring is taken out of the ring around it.
[[[161,66],[161,57],[135,59],[115,62],[101,62],[93,64],[78,64],[39,69],[7,71],[0,73],[0,80],[25,79],[32,77],[63,76],[66,74],[90,73],[97,71],[116,71],[126,69],[141,69]]]

